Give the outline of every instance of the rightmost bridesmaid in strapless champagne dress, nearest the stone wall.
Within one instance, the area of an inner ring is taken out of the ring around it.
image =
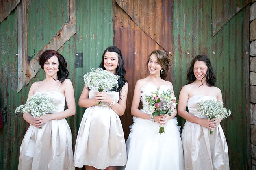
[[[220,125],[222,119],[208,120],[198,112],[200,100],[222,102],[221,90],[214,87],[216,76],[207,56],[198,55],[192,60],[187,80],[178,104],[178,114],[187,120],[182,130],[184,169],[229,170],[228,146]],[[210,129],[214,129],[212,135]]]

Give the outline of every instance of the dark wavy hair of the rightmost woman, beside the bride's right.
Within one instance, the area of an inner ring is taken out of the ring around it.
[[[214,69],[211,67],[211,61],[206,55],[197,55],[190,63],[189,69],[187,70],[187,84],[193,83],[196,80],[196,77],[194,75],[194,65],[196,61],[203,61],[207,68],[207,72],[202,78],[201,82],[203,85],[203,79],[206,78],[206,83],[209,86],[215,86],[216,83],[216,74]]]

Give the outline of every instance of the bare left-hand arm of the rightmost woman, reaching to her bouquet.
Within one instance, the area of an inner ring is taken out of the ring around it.
[[[210,122],[208,119],[198,118],[197,116],[193,116],[192,114],[186,111],[188,99],[189,99],[189,87],[184,86],[180,91],[178,115],[180,115],[182,118],[186,119],[189,122],[197,123],[203,127],[213,129],[213,127],[210,126]]]

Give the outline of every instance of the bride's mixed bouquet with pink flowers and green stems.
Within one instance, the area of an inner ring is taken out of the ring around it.
[[[171,116],[176,106],[176,97],[172,93],[173,91],[170,89],[167,91],[157,89],[151,95],[145,97],[146,103],[143,103],[143,108],[146,108],[146,111],[152,111],[153,116],[165,114]],[[159,127],[159,133],[164,133],[165,129],[163,125]]]

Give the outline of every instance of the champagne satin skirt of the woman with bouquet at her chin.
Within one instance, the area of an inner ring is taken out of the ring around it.
[[[74,153],[76,167],[97,169],[126,164],[124,132],[119,116],[108,106],[92,106],[83,115]]]

